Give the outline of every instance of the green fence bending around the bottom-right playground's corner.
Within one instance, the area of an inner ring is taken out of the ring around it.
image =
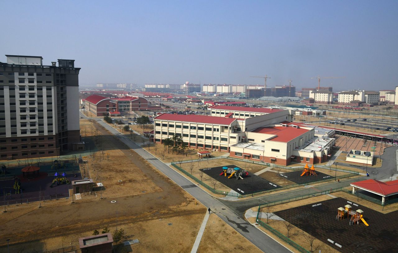
[[[270,206],[273,206],[273,205],[279,205],[279,204],[282,204],[282,203],[287,203],[287,202],[296,201],[296,200],[300,200],[300,199],[307,199],[307,198],[315,197],[315,196],[319,196],[319,195],[325,195],[325,194],[329,194],[329,193],[332,193],[332,192],[341,191],[341,189],[342,188],[330,189],[328,191],[322,191],[322,192],[318,192],[318,193],[314,193],[314,194],[302,195],[302,196],[298,196],[298,197],[294,197],[294,198],[290,198],[290,199],[282,199],[280,201],[274,201],[274,202],[271,202],[271,203],[259,205],[258,206],[258,212],[257,212],[256,221],[257,221],[257,223],[260,226],[262,226],[263,228],[265,228],[266,230],[268,230],[269,232],[271,232],[272,234],[274,234],[278,238],[282,239],[283,241],[285,241],[287,244],[291,245],[292,247],[294,247],[298,251],[300,251],[302,253],[310,253],[310,251],[304,249],[303,247],[301,247],[300,245],[295,243],[295,241],[289,239],[288,237],[283,235],[278,230],[275,230],[274,228],[272,228],[271,226],[269,226],[268,224],[266,224],[265,222],[260,220],[259,219],[259,214],[261,213],[261,208],[262,207],[270,207]]]

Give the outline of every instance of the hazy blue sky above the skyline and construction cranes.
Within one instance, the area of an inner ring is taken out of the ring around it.
[[[80,85],[398,85],[398,1],[6,1],[4,54],[74,59]]]

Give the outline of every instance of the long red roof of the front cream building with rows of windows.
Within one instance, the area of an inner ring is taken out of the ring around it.
[[[235,118],[223,118],[216,116],[205,116],[205,115],[179,115],[179,114],[160,114],[154,118],[155,120],[172,120],[181,122],[195,122],[195,123],[206,123],[206,124],[220,124],[230,125],[234,122]]]

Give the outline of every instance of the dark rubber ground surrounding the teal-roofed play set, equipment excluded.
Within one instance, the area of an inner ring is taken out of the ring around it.
[[[227,166],[228,168],[235,168],[236,166],[233,164],[230,165],[224,165]],[[269,189],[276,189],[280,188],[281,186],[276,185],[273,183],[275,186],[271,185],[268,180],[265,180],[259,176],[256,176],[252,173],[249,172],[248,176],[242,176],[244,179],[239,179],[236,180],[236,178],[233,176],[232,178],[228,178],[229,174],[227,176],[221,175],[220,173],[223,171],[222,167],[224,166],[219,166],[219,167],[213,167],[213,168],[206,168],[206,169],[200,169],[203,171],[203,173],[207,174],[208,176],[211,176],[218,182],[226,185],[228,188],[233,189],[234,191],[237,191],[238,193],[242,193],[241,191],[238,190],[241,189],[244,191],[244,193],[251,193],[251,192],[258,192],[258,191],[266,191]]]

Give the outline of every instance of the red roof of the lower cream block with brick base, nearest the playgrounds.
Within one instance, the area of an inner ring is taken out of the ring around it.
[[[279,142],[288,142],[308,131],[310,130],[287,126],[287,127],[259,127],[255,129],[253,132],[277,135],[271,140]]]

